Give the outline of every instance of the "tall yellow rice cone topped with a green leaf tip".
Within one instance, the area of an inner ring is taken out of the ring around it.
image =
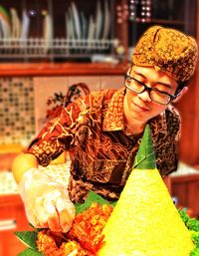
[[[194,247],[156,168],[148,126],[103,234],[99,256],[189,256]]]

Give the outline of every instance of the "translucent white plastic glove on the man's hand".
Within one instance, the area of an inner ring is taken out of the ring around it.
[[[46,173],[31,168],[19,183],[29,222],[36,228],[68,232],[76,210],[67,188],[52,180]]]

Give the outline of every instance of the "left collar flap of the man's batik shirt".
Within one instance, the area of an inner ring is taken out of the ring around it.
[[[123,99],[125,88],[116,91],[107,105],[104,115],[102,130],[118,130],[124,126],[123,120]]]

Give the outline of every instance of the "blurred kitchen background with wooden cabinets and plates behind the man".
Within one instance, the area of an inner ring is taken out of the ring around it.
[[[133,47],[151,25],[198,41],[198,0],[2,0],[0,2],[0,256],[16,256],[15,230],[30,228],[10,171],[53,108],[79,83],[91,91],[120,88]],[[199,216],[198,72],[177,104],[183,129],[171,193]],[[63,162],[57,162],[63,171]],[[65,164],[65,163],[64,163]],[[64,168],[65,169],[65,168]],[[48,169],[47,169],[48,170]],[[65,174],[65,173],[64,173]]]

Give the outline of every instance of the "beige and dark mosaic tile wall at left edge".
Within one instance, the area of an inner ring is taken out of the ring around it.
[[[0,144],[25,144],[34,134],[32,78],[0,78]]]

